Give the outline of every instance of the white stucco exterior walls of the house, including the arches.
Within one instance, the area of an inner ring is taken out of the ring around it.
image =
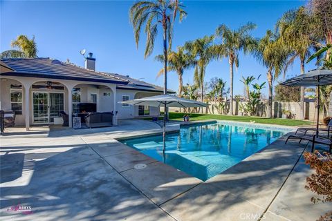
[[[15,80],[17,79],[17,81]],[[67,88],[77,87],[82,88],[82,97],[81,102],[91,102],[91,93],[97,94],[97,111],[105,112],[105,111],[113,111],[113,91],[108,87],[115,87],[115,84],[103,84],[103,83],[94,83],[94,82],[82,82],[82,81],[71,81],[71,80],[57,80],[57,79],[41,79],[35,77],[5,77],[0,76],[0,108],[2,110],[10,110],[10,84],[32,84],[38,81],[53,81],[59,82],[65,86],[64,91],[64,106],[66,113],[68,113],[68,90]],[[30,88],[29,90],[29,97],[30,97],[30,113],[29,113],[29,122],[32,124],[32,91],[33,89]],[[46,90],[49,91],[49,90]],[[23,88],[23,99],[25,97],[25,88]],[[104,93],[110,94],[104,96]],[[118,102],[122,101],[122,95],[128,95],[129,99],[135,99],[138,97],[149,97],[153,95],[157,95],[158,93],[149,93],[149,92],[141,92],[137,90],[117,90],[116,93],[116,105],[118,111],[118,119],[130,119],[134,117],[138,117],[138,106],[129,106],[129,107],[122,107],[121,104]],[[23,101],[23,113],[22,115],[17,115],[15,124],[17,126],[24,126],[25,125],[25,100]],[[150,107],[150,116],[157,116],[159,115],[159,108]]]

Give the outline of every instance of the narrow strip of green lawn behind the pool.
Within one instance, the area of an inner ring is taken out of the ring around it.
[[[169,113],[169,119],[183,120],[184,113]],[[299,119],[282,119],[282,118],[264,118],[264,117],[249,117],[249,116],[228,116],[228,115],[205,115],[199,113],[190,113],[190,120],[204,120],[204,119],[220,119],[220,120],[232,120],[237,122],[250,122],[255,121],[259,124],[277,124],[284,126],[312,126],[313,122],[308,122]]]

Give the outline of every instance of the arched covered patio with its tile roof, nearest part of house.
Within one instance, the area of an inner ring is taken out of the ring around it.
[[[116,113],[116,87],[128,84],[122,79],[53,59],[4,62],[13,70],[1,70],[1,110],[15,111],[15,125],[25,126],[26,130],[31,125],[54,124],[62,111],[68,114],[71,127],[73,115],[87,112],[80,110],[80,104],[94,107],[93,112]],[[117,124],[116,114],[113,124]]]

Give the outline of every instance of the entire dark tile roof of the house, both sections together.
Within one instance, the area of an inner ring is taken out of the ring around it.
[[[78,81],[93,81],[118,84],[122,90],[140,90],[163,93],[163,88],[145,81],[133,79],[128,75],[93,71],[75,64],[68,64],[57,59],[50,58],[12,58],[1,59],[6,66],[14,69],[14,72],[6,72],[0,75],[42,77],[51,79],[72,79]],[[175,93],[168,90],[168,93]]]

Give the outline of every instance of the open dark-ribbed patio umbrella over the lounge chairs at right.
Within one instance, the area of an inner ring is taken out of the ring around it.
[[[298,75],[282,83],[284,86],[317,86],[317,125],[316,135],[318,135],[318,126],[320,124],[320,86],[332,85],[332,70],[315,69],[310,70],[304,75]]]

